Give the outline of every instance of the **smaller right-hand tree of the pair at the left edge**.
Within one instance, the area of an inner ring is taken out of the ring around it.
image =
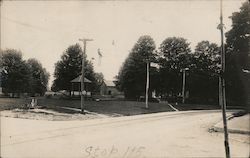
[[[34,95],[35,93],[44,95],[47,90],[49,73],[46,71],[45,68],[42,67],[42,64],[34,58],[28,59],[27,64],[31,73],[31,95]]]

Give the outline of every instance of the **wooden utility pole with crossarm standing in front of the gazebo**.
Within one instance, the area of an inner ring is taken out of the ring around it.
[[[87,41],[93,41],[93,39],[79,39],[79,41],[83,42],[83,52],[82,52],[82,78],[81,78],[81,112],[82,114],[85,114],[84,112],[84,56],[86,54],[86,44]]]

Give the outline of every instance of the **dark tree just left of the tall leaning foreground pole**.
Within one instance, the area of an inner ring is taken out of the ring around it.
[[[218,102],[219,59],[220,48],[217,44],[201,41],[196,45],[187,81],[192,101]]]

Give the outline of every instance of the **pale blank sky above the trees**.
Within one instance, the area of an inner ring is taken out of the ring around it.
[[[244,0],[224,0],[225,32],[229,16]],[[1,3],[1,49],[22,51],[25,60],[38,59],[54,80],[55,63],[80,38],[87,43],[87,58],[94,70],[113,80],[130,50],[142,35],[150,35],[157,48],[168,37],[183,37],[192,49],[202,41],[220,44],[217,29],[219,0],[165,1],[6,1]],[[99,58],[97,50],[103,57]]]

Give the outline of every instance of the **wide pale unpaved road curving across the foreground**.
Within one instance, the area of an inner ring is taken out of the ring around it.
[[[1,117],[2,157],[224,157],[220,111],[165,112],[86,121]],[[229,135],[232,157],[249,157],[248,135]]]

